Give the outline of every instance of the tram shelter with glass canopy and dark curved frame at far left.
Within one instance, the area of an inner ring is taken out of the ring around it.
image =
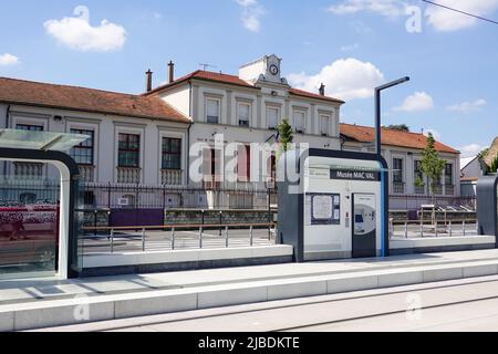
[[[0,129],[2,188],[14,188],[12,186],[19,186],[23,179],[43,188],[40,177],[33,180],[32,177],[15,174],[6,176],[8,164],[48,164],[54,166],[60,175],[56,178],[56,200],[45,204],[1,200],[0,279],[48,275],[68,279],[77,274],[74,209],[79,169],[76,163],[64,152],[87,138],[89,136],[79,134]],[[52,227],[46,228],[46,225]],[[48,235],[52,237],[50,246]]]

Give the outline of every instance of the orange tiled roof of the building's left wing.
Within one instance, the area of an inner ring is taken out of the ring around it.
[[[156,96],[0,77],[0,102],[190,123]]]

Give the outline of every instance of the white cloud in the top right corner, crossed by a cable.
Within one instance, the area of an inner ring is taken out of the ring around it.
[[[435,2],[475,15],[489,15],[498,9],[498,0],[435,0]],[[476,25],[479,20],[442,7],[428,4],[425,10],[427,22],[442,32],[457,31]]]

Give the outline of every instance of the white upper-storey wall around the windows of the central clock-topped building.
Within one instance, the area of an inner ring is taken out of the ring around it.
[[[191,80],[191,94],[190,85],[184,83],[160,93],[160,96],[184,114],[191,114],[194,123],[189,134],[190,146],[200,142],[214,146],[216,134],[224,134],[225,143],[262,144],[277,134],[276,131],[268,129],[267,119],[267,107],[277,107],[280,122],[287,117],[291,126],[294,126],[294,111],[305,113],[305,133],[294,133],[295,143],[308,143],[310,147],[315,148],[340,149],[340,105],[322,100],[291,96],[286,85],[269,84],[269,86],[251,88]],[[218,124],[206,122],[207,100],[219,102]],[[250,105],[249,127],[239,126],[239,103]],[[320,134],[320,114],[330,115],[328,136]],[[256,165],[251,163],[251,171],[256,169]],[[252,178],[258,176],[252,175]]]

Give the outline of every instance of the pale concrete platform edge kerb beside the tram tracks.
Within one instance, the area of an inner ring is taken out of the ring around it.
[[[498,274],[498,260],[0,305],[0,331],[124,319]]]

